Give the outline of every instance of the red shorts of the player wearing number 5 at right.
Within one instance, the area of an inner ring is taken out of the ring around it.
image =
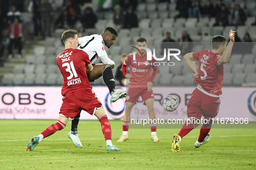
[[[198,88],[194,89],[188,101],[188,117],[201,119],[204,116],[209,120],[217,116],[220,107],[220,97],[212,97]]]

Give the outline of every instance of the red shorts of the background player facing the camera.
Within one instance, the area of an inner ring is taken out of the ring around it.
[[[143,101],[149,98],[154,98],[153,90],[148,91],[148,88],[129,88],[126,95],[126,101],[136,103],[139,98],[139,94]]]

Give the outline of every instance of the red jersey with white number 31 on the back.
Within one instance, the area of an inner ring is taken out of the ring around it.
[[[79,89],[92,89],[86,75],[85,66],[91,63],[86,52],[78,49],[65,49],[61,54],[58,54],[56,61],[64,78],[62,96],[67,92]]]

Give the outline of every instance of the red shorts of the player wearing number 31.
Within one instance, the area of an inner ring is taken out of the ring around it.
[[[102,104],[92,90],[68,92],[62,98],[62,101],[59,114],[70,119],[74,119],[81,110],[94,115],[95,110],[102,107]]]

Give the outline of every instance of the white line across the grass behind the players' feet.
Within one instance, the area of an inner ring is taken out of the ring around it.
[[[250,137],[256,135],[222,135],[222,136],[211,136],[213,138],[232,138],[232,137]],[[186,136],[185,138],[198,138],[198,136]],[[148,139],[148,138],[133,138],[133,139]],[[159,139],[172,139],[169,138],[159,138]],[[70,139],[44,139],[44,141],[67,141]],[[92,139],[80,139],[80,140],[104,140],[104,138],[92,138]],[[28,141],[28,140],[4,140],[0,142],[19,142],[19,141]]]

